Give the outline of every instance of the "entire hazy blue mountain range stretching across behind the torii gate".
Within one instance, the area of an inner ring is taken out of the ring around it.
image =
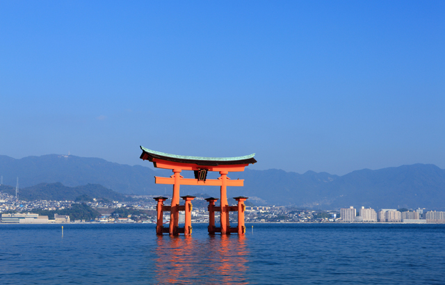
[[[20,187],[60,182],[76,187],[101,184],[119,193],[169,195],[170,185],[154,184],[154,176],[170,176],[170,170],[152,170],[140,165],[111,163],[100,158],[78,156],[29,156],[22,159],[0,156],[4,184]],[[193,172],[182,172],[193,177]],[[210,172],[209,179],[218,177]],[[445,170],[435,165],[414,164],[380,170],[357,170],[343,176],[308,171],[284,170],[231,172],[232,179],[245,179],[244,187],[229,187],[228,197],[245,195],[254,204],[305,206],[312,209],[339,209],[348,206],[378,208],[445,209]],[[216,186],[181,186],[181,195],[207,193],[219,197]]]

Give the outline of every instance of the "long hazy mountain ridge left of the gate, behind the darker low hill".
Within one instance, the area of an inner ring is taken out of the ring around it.
[[[0,156],[3,184],[21,188],[40,183],[60,182],[65,186],[101,184],[120,193],[151,193],[165,186],[154,186],[154,170],[140,165],[111,163],[101,158],[49,154],[21,159]],[[145,188],[145,190],[144,190]],[[170,189],[170,187],[169,187]]]

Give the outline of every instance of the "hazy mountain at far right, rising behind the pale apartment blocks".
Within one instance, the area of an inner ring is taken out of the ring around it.
[[[327,185],[332,206],[445,209],[445,170],[432,164],[357,170]]]

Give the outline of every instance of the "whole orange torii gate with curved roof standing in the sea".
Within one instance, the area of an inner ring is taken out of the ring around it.
[[[163,202],[168,199],[166,197],[156,197],[158,205],[157,209],[157,225],[156,234],[169,233],[170,235],[177,235],[184,233],[186,236],[192,232],[191,227],[191,201],[195,198],[193,196],[181,197],[186,201],[184,206],[179,206],[179,186],[180,185],[200,185],[200,186],[220,186],[220,202],[221,206],[215,206],[216,198],[206,199],[209,202],[209,234],[220,232],[221,234],[238,233],[245,234],[244,226],[244,202],[247,197],[235,197],[238,206],[229,206],[227,204],[227,186],[243,186],[244,180],[230,180],[227,177],[229,172],[241,172],[250,163],[257,161],[250,154],[248,156],[213,158],[200,156],[179,156],[175,154],[165,154],[163,152],[155,152],[154,150],[140,147],[142,154],[140,158],[151,161],[155,168],[171,169],[173,175],[171,177],[154,177],[156,184],[172,184],[173,197],[171,206],[164,206]],[[195,179],[186,179],[180,175],[182,170],[193,170],[195,172]],[[207,172],[218,171],[221,176],[218,179],[207,179]],[[164,228],[162,219],[163,211],[170,211],[170,227]],[[179,211],[185,211],[185,226],[184,229],[178,227]],[[215,227],[215,212],[221,213],[220,224],[221,227]],[[238,211],[238,227],[231,228],[229,224],[229,212]]]

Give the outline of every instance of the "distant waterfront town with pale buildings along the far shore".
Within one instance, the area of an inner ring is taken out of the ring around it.
[[[3,224],[60,223],[60,222],[156,222],[154,196],[130,196],[135,202],[47,201],[18,200],[13,195],[0,193],[0,213]],[[204,197],[193,200],[192,220],[195,223],[209,222],[207,202]],[[170,219],[164,214],[165,222]],[[179,219],[184,218],[180,215]],[[231,217],[232,218],[232,217]],[[216,216],[219,221],[218,215]],[[346,209],[320,211],[298,209],[291,206],[247,206],[246,222],[399,222],[428,223],[445,222],[445,212],[426,209]],[[236,217],[233,216],[233,222]]]

